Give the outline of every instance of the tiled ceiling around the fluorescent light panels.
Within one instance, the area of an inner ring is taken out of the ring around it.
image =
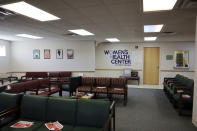
[[[142,0],[26,0],[26,2],[60,17],[61,20],[40,22],[21,15],[0,17],[0,39],[25,40],[15,35],[26,33],[45,39],[100,42],[108,37],[116,37],[121,42],[143,42],[144,36],[158,36],[159,42],[195,40],[197,16],[195,6],[143,13]],[[162,31],[176,34],[144,34],[143,26],[148,24],[164,24]],[[94,33],[95,36],[65,35],[70,33],[67,30],[80,28]]]

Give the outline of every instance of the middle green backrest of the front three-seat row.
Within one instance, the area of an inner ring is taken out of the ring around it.
[[[47,104],[46,121],[59,121],[62,124],[74,125],[76,100],[50,97]]]

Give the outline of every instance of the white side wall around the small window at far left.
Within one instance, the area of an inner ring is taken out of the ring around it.
[[[6,47],[6,56],[0,56],[0,73],[6,73],[10,71],[10,42],[0,40],[0,45]]]

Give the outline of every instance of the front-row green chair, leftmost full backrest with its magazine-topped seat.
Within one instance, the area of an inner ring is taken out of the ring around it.
[[[9,123],[7,126],[2,127],[0,131],[18,131],[21,129],[11,128],[10,126],[18,121],[30,121],[34,124],[22,129],[23,131],[35,131],[43,125],[45,120],[47,97],[24,95],[21,102],[20,116],[17,120]]]

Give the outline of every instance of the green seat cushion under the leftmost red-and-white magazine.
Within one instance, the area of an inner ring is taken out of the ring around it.
[[[12,127],[10,127],[10,126],[12,126],[13,124],[15,124],[15,123],[17,123],[17,122],[19,122],[19,121],[34,122],[34,124],[33,124],[31,127],[29,127],[29,128],[23,128],[23,129],[21,129],[21,128],[12,128]],[[42,123],[42,122],[39,122],[39,121],[33,121],[33,120],[28,120],[28,119],[18,119],[18,120],[15,120],[15,121],[9,123],[9,124],[6,125],[6,126],[3,126],[3,127],[0,129],[0,131],[37,131],[37,129],[38,129],[39,127],[41,127],[42,125],[43,125],[43,123]]]

